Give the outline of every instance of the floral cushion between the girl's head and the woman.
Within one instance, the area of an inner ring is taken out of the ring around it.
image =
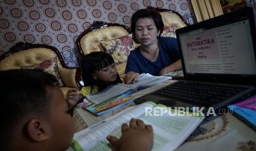
[[[110,54],[117,64],[126,62],[130,51],[133,50],[132,34],[117,39],[100,41],[100,44],[104,51]]]

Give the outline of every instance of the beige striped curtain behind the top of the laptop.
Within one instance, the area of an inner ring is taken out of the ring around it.
[[[197,22],[222,15],[220,0],[190,0]]]

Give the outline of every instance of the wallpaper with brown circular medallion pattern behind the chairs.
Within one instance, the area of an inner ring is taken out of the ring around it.
[[[42,43],[58,48],[68,66],[77,66],[74,42],[93,21],[130,26],[134,11],[149,5],[176,10],[194,23],[186,0],[1,0],[0,55],[20,41]]]

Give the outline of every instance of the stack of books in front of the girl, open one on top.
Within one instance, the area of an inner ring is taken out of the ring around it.
[[[134,96],[130,94],[168,79],[171,79],[171,77],[152,76],[143,73],[139,75],[138,81],[134,84],[118,83],[96,94],[87,95],[82,107],[99,116],[132,102]]]

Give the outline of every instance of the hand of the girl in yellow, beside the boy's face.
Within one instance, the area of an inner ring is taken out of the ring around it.
[[[80,98],[78,89],[75,89],[75,88],[69,89],[66,94],[66,101],[68,103],[68,109],[72,109],[80,99],[81,98]]]

